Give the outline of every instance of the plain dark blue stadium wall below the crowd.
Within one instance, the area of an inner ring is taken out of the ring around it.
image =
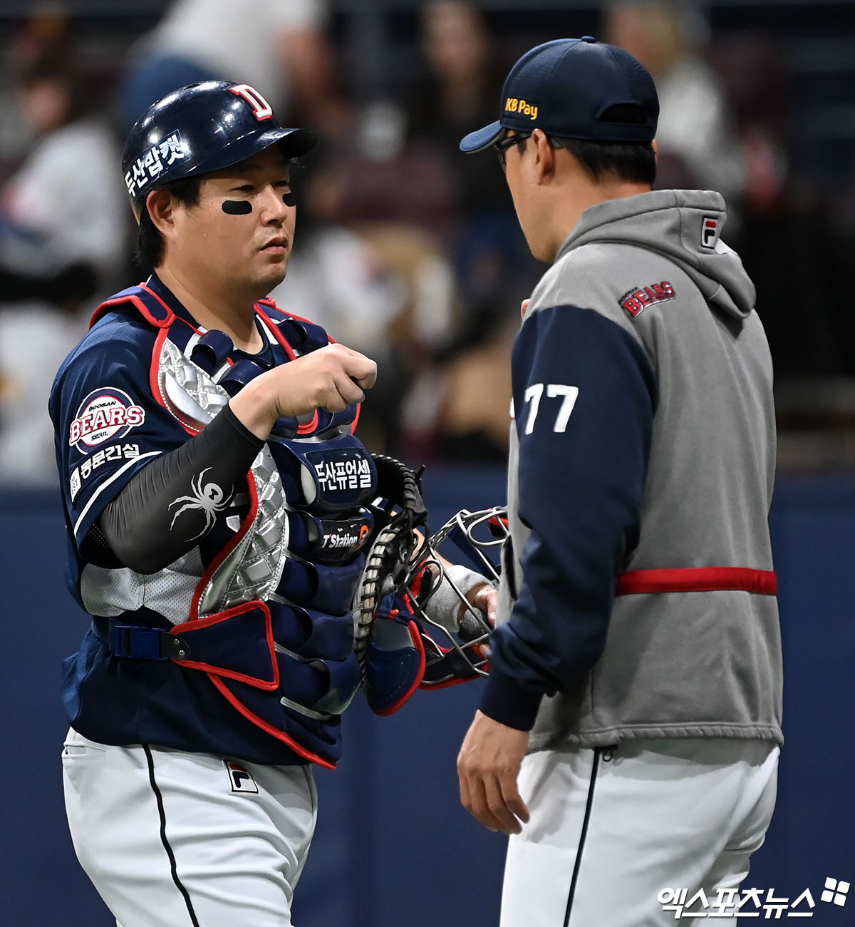
[[[504,477],[437,471],[427,497],[439,526],[458,508],[503,500]],[[855,480],[780,480],[772,526],[787,743],[773,826],[745,885],[790,899],[810,888],[813,923],[851,924],[855,891],[844,908],[820,895],[828,877],[855,883]],[[0,924],[110,927],[62,806],[59,666],[85,619],[64,588],[57,494],[0,492],[0,538]],[[478,696],[473,683],[420,692],[394,717],[361,704],[348,711],[345,758],[318,775],[320,821],[296,893],[297,927],[497,924],[504,838],[476,825],[457,798],[455,758]]]

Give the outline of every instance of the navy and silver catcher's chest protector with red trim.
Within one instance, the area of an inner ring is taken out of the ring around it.
[[[145,286],[107,300],[94,321],[126,303],[159,329],[150,388],[188,435],[262,372],[245,358],[235,361],[231,339],[195,328]],[[257,311],[277,365],[329,343],[320,326],[271,301]],[[277,422],[246,475],[244,514],[221,524],[214,506],[203,572],[183,592],[187,618],[170,629],[178,638],[169,648],[173,663],[206,674],[248,721],[329,767],[338,755],[337,716],[360,681],[350,605],[374,527],[366,505],[376,472],[352,434],[357,415],[351,406]],[[114,622],[113,629],[113,641],[143,633],[132,624]],[[133,649],[119,653],[133,658]]]

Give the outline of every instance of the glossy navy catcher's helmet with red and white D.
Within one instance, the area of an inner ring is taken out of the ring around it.
[[[157,187],[258,154],[276,143],[287,158],[315,146],[311,129],[285,129],[265,98],[245,83],[205,81],[173,90],[133,123],[121,171],[134,212]]]

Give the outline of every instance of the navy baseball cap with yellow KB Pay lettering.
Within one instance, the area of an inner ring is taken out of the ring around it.
[[[594,142],[652,142],[659,120],[659,97],[648,71],[629,52],[590,35],[555,39],[526,52],[505,79],[500,106],[500,119],[469,133],[461,151],[481,151],[506,129],[542,129]],[[614,107],[621,109],[610,113]]]

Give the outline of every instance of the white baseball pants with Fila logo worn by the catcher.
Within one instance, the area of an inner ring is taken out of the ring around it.
[[[290,927],[317,817],[311,769],[69,731],[66,811],[118,927]]]

